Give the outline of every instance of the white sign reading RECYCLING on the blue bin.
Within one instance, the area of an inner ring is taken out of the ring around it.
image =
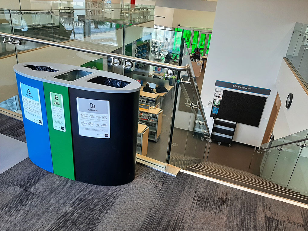
[[[39,89],[20,83],[22,106],[25,117],[39,125],[43,125]]]

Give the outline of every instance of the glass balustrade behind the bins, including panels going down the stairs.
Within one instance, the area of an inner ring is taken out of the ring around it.
[[[56,3],[59,4],[59,2]],[[61,6],[64,7],[64,5]],[[0,21],[0,32],[58,43],[65,42],[75,47],[107,51],[175,66],[191,65],[186,43],[181,40],[182,32],[179,31],[105,22],[93,19],[92,14],[83,14],[84,17],[76,18],[75,14],[79,15],[79,12],[76,10],[71,12],[66,8],[54,14],[50,14],[47,10],[35,12],[2,10],[1,12],[3,13],[0,16],[7,20]],[[159,65],[148,65],[142,62],[133,62],[132,67],[128,67],[129,63],[126,62],[115,66],[111,65],[113,59],[110,56],[94,55],[29,41],[23,41],[18,46],[2,44],[5,47],[2,45],[0,65],[3,66],[3,72],[8,73],[3,76],[3,79],[11,81],[11,89],[8,88],[7,92],[3,91],[5,94],[1,95],[3,98],[1,105],[4,105],[3,102],[10,103],[10,100],[17,100],[15,104],[19,106],[13,71],[15,63],[29,61],[64,63],[126,75],[136,79],[142,85],[138,115],[140,137],[138,136],[137,158],[163,168],[166,164],[174,164],[172,162],[174,158],[178,161],[175,165],[182,168],[204,160],[209,146],[209,142],[205,139],[208,130],[206,121],[203,119],[203,107],[199,106],[202,105],[200,91],[192,68],[189,71],[171,72],[170,69]],[[126,67],[123,68],[122,65]],[[180,83],[181,79],[184,80],[183,83]],[[143,91],[147,83],[152,88],[152,92]],[[11,110],[19,109],[12,107]],[[177,149],[175,143],[178,144]]]

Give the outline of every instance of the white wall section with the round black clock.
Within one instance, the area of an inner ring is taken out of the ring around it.
[[[273,130],[275,139],[308,129],[308,95],[284,60],[276,86],[282,104]],[[285,104],[289,93],[293,93],[293,101],[287,109]]]

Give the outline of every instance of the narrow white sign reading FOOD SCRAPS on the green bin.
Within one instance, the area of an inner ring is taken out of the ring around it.
[[[62,132],[66,131],[64,108],[63,108],[63,95],[50,92],[52,124],[55,130]]]

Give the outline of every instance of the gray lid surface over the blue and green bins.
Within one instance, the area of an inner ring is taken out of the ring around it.
[[[36,66],[36,67],[50,67],[53,70],[57,70],[55,72],[51,71],[38,71],[32,70],[30,67],[26,67],[28,65]],[[53,83],[61,86],[68,86],[68,83],[73,81],[67,81],[64,79],[54,78],[56,76],[68,73],[70,71],[79,70],[79,71],[88,71],[89,74],[93,74],[98,70],[90,69],[86,67],[78,67],[68,64],[60,64],[60,63],[45,63],[45,62],[26,62],[26,63],[18,63],[14,65],[14,71],[20,75],[26,76],[30,79],[35,79],[47,83]],[[89,75],[87,74],[87,75]],[[86,75],[85,75],[86,76]]]

